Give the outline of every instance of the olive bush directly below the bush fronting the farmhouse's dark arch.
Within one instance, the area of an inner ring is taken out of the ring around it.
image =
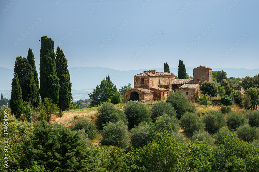
[[[150,125],[146,122],[140,122],[139,125],[131,129],[130,143],[133,148],[139,148],[147,145],[152,140],[149,135]]]

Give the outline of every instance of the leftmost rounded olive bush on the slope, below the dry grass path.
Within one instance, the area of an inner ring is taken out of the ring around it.
[[[89,121],[89,119],[86,117],[74,120],[70,128],[72,130],[84,129],[85,133],[91,140],[93,140],[98,133],[96,125],[93,123],[93,121]]]

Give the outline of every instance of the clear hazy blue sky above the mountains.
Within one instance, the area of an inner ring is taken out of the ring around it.
[[[258,0],[1,0],[0,7],[0,67],[13,68],[31,48],[39,68],[44,35],[68,67],[259,65]]]

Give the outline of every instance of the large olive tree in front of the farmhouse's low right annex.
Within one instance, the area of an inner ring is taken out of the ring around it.
[[[189,102],[186,94],[181,89],[175,92],[168,92],[166,102],[171,103],[172,107],[174,107],[178,119],[180,119],[185,112],[196,113],[195,105]]]

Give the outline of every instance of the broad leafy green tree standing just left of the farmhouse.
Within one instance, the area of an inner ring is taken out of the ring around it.
[[[111,97],[117,93],[116,86],[112,81],[103,79],[100,85],[97,85],[93,92],[89,94],[91,101],[91,107],[100,106],[103,102],[109,101]]]

